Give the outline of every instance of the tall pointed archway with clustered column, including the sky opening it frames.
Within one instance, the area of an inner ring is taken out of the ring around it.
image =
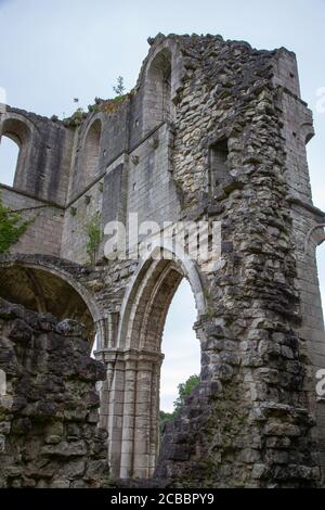
[[[200,374],[200,344],[192,326],[205,306],[200,278],[191,260],[148,258],[139,269],[121,306],[120,366],[107,385],[107,410],[102,409],[110,417],[108,459],[114,476],[153,475],[160,445],[159,411],[172,410],[178,384]],[[160,386],[164,352],[167,361]],[[122,417],[118,424],[117,416]]]

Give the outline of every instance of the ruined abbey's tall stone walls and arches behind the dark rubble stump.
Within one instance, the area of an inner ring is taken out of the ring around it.
[[[324,486],[315,250],[325,214],[312,204],[312,114],[295,54],[209,35],[158,35],[150,44],[132,93],[100,102],[77,127],[14,109],[1,115],[2,133],[21,143],[3,199],[40,207],[34,230],[1,259],[0,294],[60,320],[83,317],[90,340],[96,331],[112,477]],[[103,227],[128,226],[131,213],[139,224],[219,221],[221,259],[179,257],[165,240],[172,260],[156,260],[153,245],[143,259],[108,262],[103,243],[98,264],[86,265],[95,211]],[[197,306],[202,382],[159,451],[161,336],[182,278]]]

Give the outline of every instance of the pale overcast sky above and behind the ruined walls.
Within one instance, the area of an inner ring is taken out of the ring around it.
[[[146,39],[159,31],[221,34],[259,49],[285,46],[297,53],[302,98],[314,112],[316,137],[308,153],[314,203],[324,209],[325,109],[317,109],[317,92],[325,88],[324,27],[325,0],[0,0],[0,87],[12,106],[62,117],[75,110],[74,98],[87,107],[95,97],[110,97],[119,75],[131,89],[148,50]],[[2,182],[9,154],[10,149],[0,158]],[[318,259],[325,303],[324,245]],[[171,408],[178,382],[199,370],[194,318],[184,284],[164,339],[165,409]]]

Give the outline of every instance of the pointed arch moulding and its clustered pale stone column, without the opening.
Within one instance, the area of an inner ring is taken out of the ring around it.
[[[198,320],[205,313],[199,275],[191,260],[157,247],[140,264],[125,296],[117,344],[106,349],[106,426],[110,472],[117,477],[153,475],[159,450],[161,339],[172,297],[183,278],[194,293]],[[173,255],[173,256],[172,256]],[[101,358],[103,359],[103,358]]]

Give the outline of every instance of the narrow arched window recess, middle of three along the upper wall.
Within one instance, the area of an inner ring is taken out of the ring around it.
[[[96,119],[90,126],[83,146],[83,176],[86,183],[99,174],[102,123]]]

